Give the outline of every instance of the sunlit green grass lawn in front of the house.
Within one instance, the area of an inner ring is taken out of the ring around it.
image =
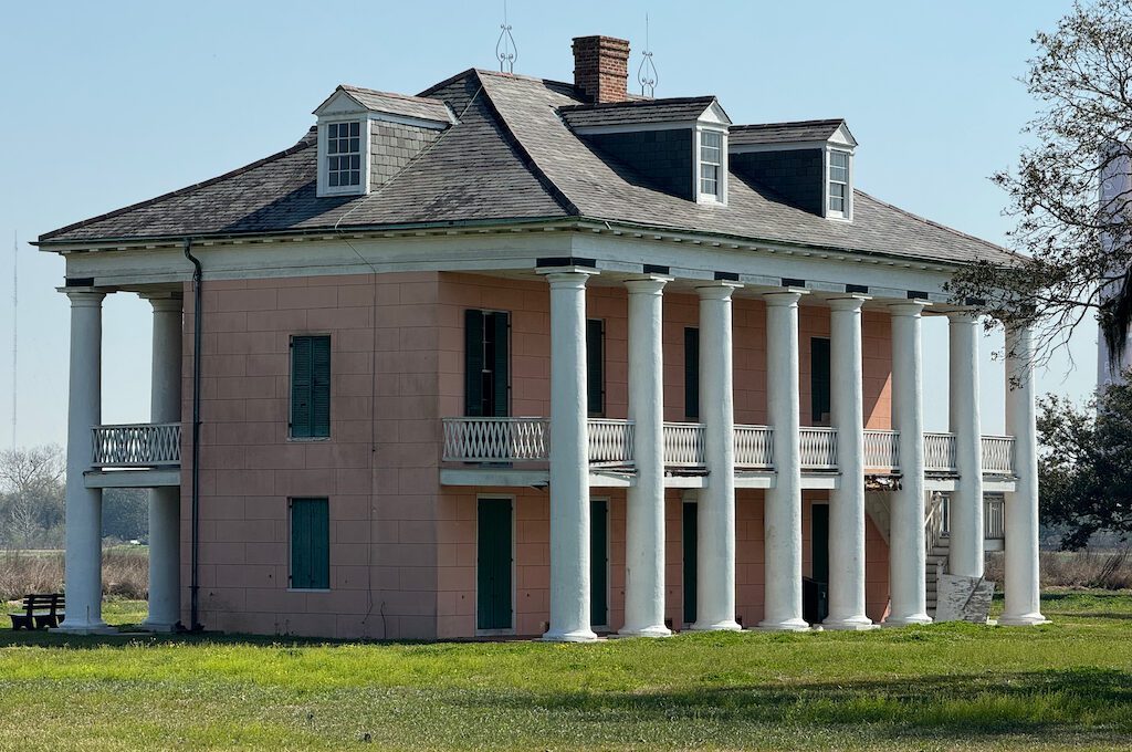
[[[586,646],[6,626],[0,749],[1132,747],[1132,592],[1053,592],[1045,610],[1031,629]]]

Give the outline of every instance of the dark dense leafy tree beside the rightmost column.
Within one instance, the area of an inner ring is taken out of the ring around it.
[[[1038,415],[1041,521],[1075,550],[1098,531],[1132,532],[1132,386],[1114,384],[1083,408],[1046,396]]]

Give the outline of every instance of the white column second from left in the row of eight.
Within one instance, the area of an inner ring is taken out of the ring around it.
[[[636,485],[626,492],[625,625],[619,634],[666,636],[664,388],[662,304],[667,276],[629,280],[629,420]]]

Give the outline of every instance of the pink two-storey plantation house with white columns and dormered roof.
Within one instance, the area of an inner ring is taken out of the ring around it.
[[[1030,333],[981,436],[980,322],[943,291],[1013,258],[857,190],[846,122],[634,96],[628,54],[340,86],[291,148],[40,239],[71,301],[62,630],[104,629],[120,486],[153,489],[154,630],[918,624],[988,545],[1000,623],[1043,621]],[[153,304],[148,425],[101,425],[109,293]]]

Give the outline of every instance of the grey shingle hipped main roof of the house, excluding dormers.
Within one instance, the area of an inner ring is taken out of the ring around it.
[[[49,232],[40,240],[84,242],[584,216],[928,260],[1013,258],[997,246],[860,191],[850,223],[794,207],[736,173],[731,173],[726,206],[704,206],[651,189],[631,168],[604,161],[563,121],[559,113],[566,108],[567,112],[601,110],[576,108],[581,97],[567,84],[470,70],[421,97],[409,99],[446,102],[458,122],[368,196],[316,197],[311,131],[266,160]],[[631,106],[638,105],[608,109]]]

